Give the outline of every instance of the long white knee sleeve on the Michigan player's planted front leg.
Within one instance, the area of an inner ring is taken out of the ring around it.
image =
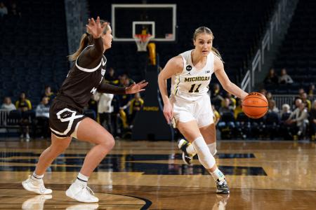
[[[215,158],[209,151],[209,148],[206,145],[203,137],[197,137],[195,141],[192,142],[192,145],[195,147],[195,151],[197,151],[197,156],[199,157],[199,162],[206,168],[211,169],[216,164]]]

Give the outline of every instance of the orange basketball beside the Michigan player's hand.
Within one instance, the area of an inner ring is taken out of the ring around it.
[[[242,111],[249,118],[261,118],[268,111],[268,100],[259,92],[251,92],[242,102]]]

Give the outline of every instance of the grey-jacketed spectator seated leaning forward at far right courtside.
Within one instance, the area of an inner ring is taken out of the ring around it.
[[[298,108],[291,113],[286,123],[288,125],[296,124],[298,137],[305,137],[306,125],[308,125],[308,111],[305,109],[305,104],[301,103]]]

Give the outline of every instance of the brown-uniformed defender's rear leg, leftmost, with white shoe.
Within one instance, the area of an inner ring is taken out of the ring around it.
[[[65,151],[71,140],[72,137],[59,139],[54,134],[51,134],[51,146],[46,148],[46,150],[41,153],[41,156],[39,156],[39,162],[37,162],[34,173],[30,175],[27,180],[22,182],[22,186],[25,190],[37,194],[51,194],[53,192],[44,186],[44,173],[53,160]]]

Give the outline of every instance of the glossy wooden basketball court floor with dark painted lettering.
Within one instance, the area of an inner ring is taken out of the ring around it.
[[[183,165],[175,142],[117,141],[89,180],[98,204],[65,196],[91,144],[73,141],[45,174],[52,195],[34,195],[21,181],[49,140],[0,141],[0,209],[316,209],[316,145],[294,141],[221,141],[216,161],[231,188],[216,195],[194,160]]]

